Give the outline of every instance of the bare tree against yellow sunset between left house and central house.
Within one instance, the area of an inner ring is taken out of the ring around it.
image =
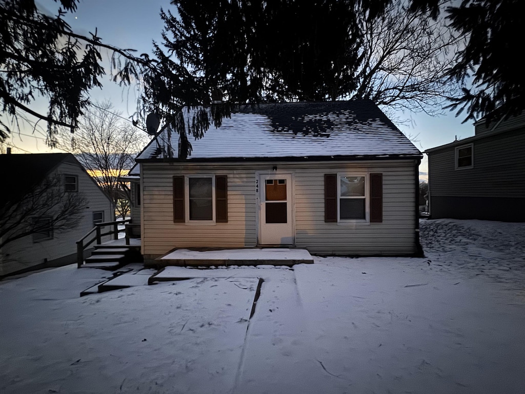
[[[62,131],[57,138],[57,146],[75,154],[123,218],[130,204],[119,177],[133,167],[135,156],[147,142],[148,134],[125,122],[108,101],[89,108],[74,134]]]

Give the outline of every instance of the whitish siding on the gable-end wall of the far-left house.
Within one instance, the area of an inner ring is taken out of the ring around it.
[[[5,246],[3,258],[14,260],[24,265],[43,263],[44,258],[48,262],[70,256],[69,262],[75,262],[77,245],[76,241],[81,239],[93,228],[93,212],[103,211],[104,221],[114,220],[114,209],[107,196],[98,188],[89,175],[75,163],[64,162],[59,165],[57,171],[63,174],[77,175],[78,192],[82,194],[87,202],[83,210],[82,218],[78,225],[71,230],[54,230],[53,239],[34,243],[33,236],[29,235],[23,239],[14,241]],[[109,237],[106,237],[108,240]]]

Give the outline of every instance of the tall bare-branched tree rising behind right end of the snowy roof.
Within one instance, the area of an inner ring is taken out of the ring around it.
[[[434,20],[423,11],[409,12],[408,6],[396,0],[381,17],[360,18],[362,63],[350,98],[371,99],[389,116],[404,110],[438,115],[445,101],[460,93],[446,71],[464,43],[445,16]]]

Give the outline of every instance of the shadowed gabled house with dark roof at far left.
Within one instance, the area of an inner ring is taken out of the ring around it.
[[[76,241],[93,229],[95,223],[114,220],[112,202],[70,153],[2,154],[0,168],[3,171],[0,204],[4,210],[12,204],[27,204],[31,199],[36,199],[37,201],[31,203],[38,206],[39,199],[41,201],[49,197],[49,194],[44,194],[43,185],[52,185],[49,189],[54,189],[57,194],[61,193],[62,197],[69,198],[71,195],[73,198],[78,195],[79,199],[76,200],[82,201],[83,205],[73,228],[61,231],[60,228],[46,226],[2,247],[0,276],[39,264],[58,266],[74,263]],[[35,190],[39,190],[37,197]],[[42,205],[46,206],[47,202],[40,204]],[[38,214],[30,217],[30,223],[50,222],[58,211],[58,207],[49,210],[37,209]],[[28,212],[35,210],[29,209]],[[4,240],[8,235],[4,235]],[[1,241],[0,239],[0,243]]]

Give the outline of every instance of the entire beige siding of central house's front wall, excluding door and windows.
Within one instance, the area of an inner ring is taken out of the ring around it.
[[[355,163],[212,164],[143,163],[142,248],[146,258],[176,247],[252,247],[257,245],[257,172],[292,173],[296,246],[319,254],[410,254],[415,245],[414,160]],[[383,174],[382,223],[325,223],[325,173]],[[174,175],[228,177],[228,222],[173,223]]]

